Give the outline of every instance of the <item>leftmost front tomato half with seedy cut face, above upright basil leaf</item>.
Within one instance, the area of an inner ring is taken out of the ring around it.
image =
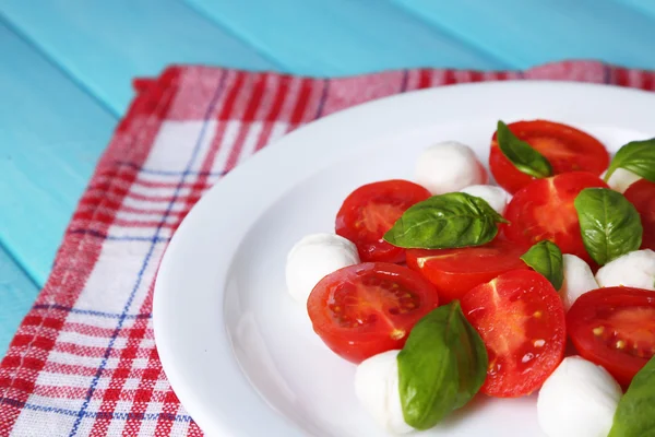
[[[434,286],[388,262],[349,265],[323,277],[307,310],[314,332],[342,357],[360,363],[402,349],[414,324],[437,308]]]

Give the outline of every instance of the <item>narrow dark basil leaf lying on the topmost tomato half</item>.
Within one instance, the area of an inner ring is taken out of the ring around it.
[[[527,142],[519,140],[508,125],[502,121],[498,121],[496,141],[502,154],[521,173],[536,178],[552,176],[552,167],[548,160]]]

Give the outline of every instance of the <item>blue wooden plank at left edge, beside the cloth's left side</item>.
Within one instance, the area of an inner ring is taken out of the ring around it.
[[[43,285],[116,118],[2,22],[0,54],[0,241]]]

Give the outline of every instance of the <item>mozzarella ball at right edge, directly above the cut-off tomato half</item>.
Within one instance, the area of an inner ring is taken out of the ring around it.
[[[598,269],[596,282],[602,287],[623,285],[655,290],[655,252],[644,249],[626,253]]]

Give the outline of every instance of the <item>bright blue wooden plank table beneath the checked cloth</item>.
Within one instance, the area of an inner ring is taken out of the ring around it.
[[[0,0],[0,355],[131,96],[192,62],[311,75],[655,69],[655,0]]]

